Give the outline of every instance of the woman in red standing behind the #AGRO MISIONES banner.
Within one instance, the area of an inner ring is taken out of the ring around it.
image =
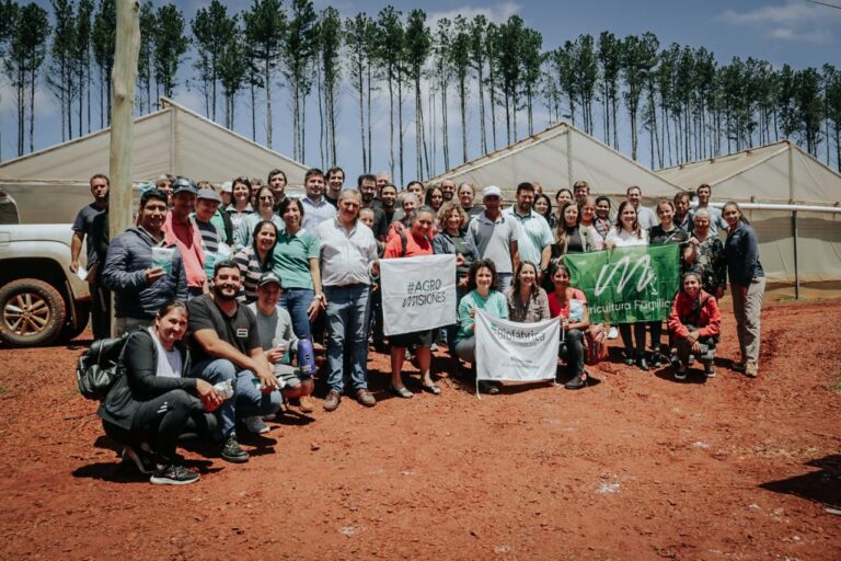
[[[429,240],[433,232],[435,213],[428,206],[422,206],[408,215],[408,230],[405,233],[405,245],[400,236],[394,236],[385,244],[385,259],[415,257],[431,255],[433,243]],[[433,335],[435,330],[415,331],[400,335],[391,335],[391,392],[404,399],[414,396],[403,385],[403,362],[406,357],[406,348],[415,348],[417,366],[420,369],[420,387],[435,396],[441,393],[441,389],[433,381],[430,373]]]

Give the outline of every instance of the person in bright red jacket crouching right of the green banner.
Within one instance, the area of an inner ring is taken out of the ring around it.
[[[669,333],[675,342],[675,379],[682,380],[691,365],[690,355],[704,365],[707,378],[715,376],[713,353],[721,332],[721,316],[715,297],[701,288],[701,275],[683,274],[681,290],[669,314]]]

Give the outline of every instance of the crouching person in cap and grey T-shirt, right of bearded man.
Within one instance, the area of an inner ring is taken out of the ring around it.
[[[298,352],[298,337],[292,330],[292,318],[286,308],[278,307],[284,291],[280,277],[272,271],[263,273],[257,282],[257,300],[247,307],[257,319],[260,344],[266,360],[275,368],[275,376],[283,380],[280,393],[285,400],[298,399],[303,413],[312,413],[315,405],[310,396],[315,385],[312,376],[301,374],[290,365],[290,353]]]

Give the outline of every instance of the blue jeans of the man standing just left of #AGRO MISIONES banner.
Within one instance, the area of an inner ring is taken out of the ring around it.
[[[345,374],[355,390],[368,389],[368,285],[325,286],[327,297],[327,385],[339,393]],[[344,371],[344,357],[349,357],[349,373]]]

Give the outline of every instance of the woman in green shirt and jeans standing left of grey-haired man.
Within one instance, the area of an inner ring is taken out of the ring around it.
[[[280,307],[292,318],[292,331],[298,339],[312,340],[310,322],[326,306],[321,290],[319,237],[301,228],[303,205],[300,199],[286,197],[278,209],[284,229],[277,234],[272,271],[284,282]]]

